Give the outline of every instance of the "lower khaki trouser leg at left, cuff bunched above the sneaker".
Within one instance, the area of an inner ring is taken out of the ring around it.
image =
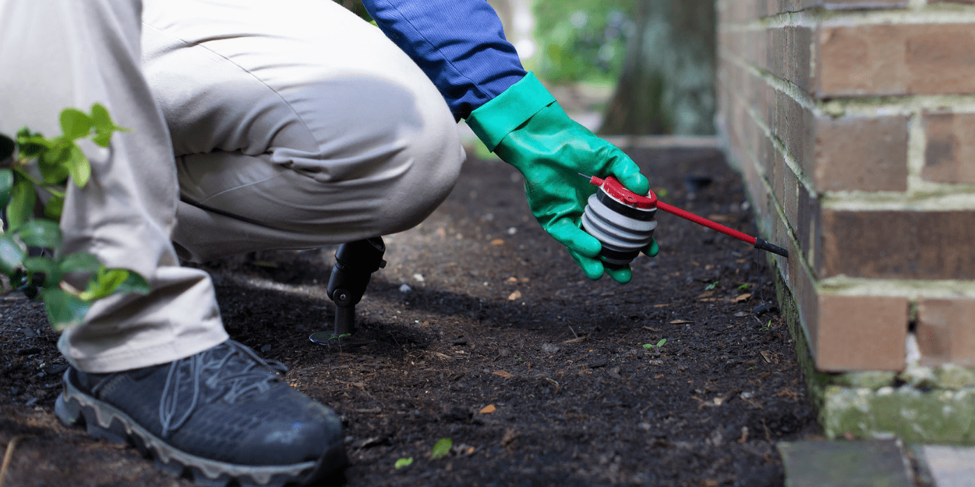
[[[165,363],[227,338],[209,277],[180,268],[170,243],[176,170],[162,114],[139,72],[141,5],[131,0],[0,0],[0,131],[53,136],[58,115],[99,102],[116,123],[111,147],[84,144],[92,178],[71,186],[64,252],[88,251],[145,276],[147,296],[115,296],[64,332],[61,353],[88,372]]]

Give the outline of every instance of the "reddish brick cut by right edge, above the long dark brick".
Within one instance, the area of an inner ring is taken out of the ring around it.
[[[975,184],[975,114],[925,113],[927,150],[921,178]]]

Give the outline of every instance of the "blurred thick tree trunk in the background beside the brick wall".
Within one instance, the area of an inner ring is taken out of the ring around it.
[[[636,0],[602,133],[715,132],[715,0]]]

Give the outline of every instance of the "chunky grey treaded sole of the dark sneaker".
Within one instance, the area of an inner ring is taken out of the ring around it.
[[[176,449],[162,438],[139,426],[128,414],[107,402],[81,392],[64,372],[64,391],[55,402],[55,414],[66,426],[87,428],[92,436],[116,444],[135,446],[142,456],[155,460],[156,467],[192,480],[204,487],[283,487],[307,485],[345,468],[348,458],[341,442],[329,448],[316,462],[285,466],[246,466],[216,462]]]

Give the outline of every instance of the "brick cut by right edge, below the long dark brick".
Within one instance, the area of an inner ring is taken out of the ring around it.
[[[921,299],[917,346],[925,363],[975,366],[975,299]]]

